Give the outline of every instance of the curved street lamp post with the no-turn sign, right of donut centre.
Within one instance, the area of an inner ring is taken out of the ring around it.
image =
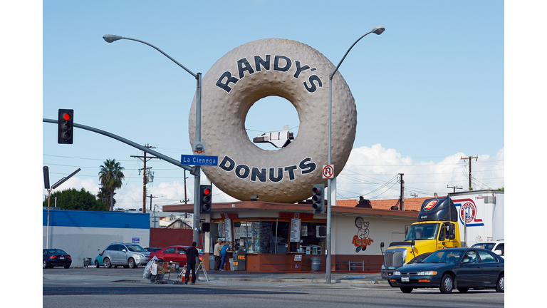
[[[330,153],[332,151],[332,149],[330,148],[331,147],[331,143],[332,143],[332,124],[333,124],[333,121],[332,121],[332,115],[333,115],[333,77],[334,77],[334,74],[338,71],[338,68],[340,67],[340,64],[342,64],[342,62],[344,61],[345,59],[345,56],[348,56],[348,53],[350,52],[351,48],[353,48],[353,46],[355,46],[355,44],[360,41],[361,39],[363,39],[365,36],[368,36],[368,34],[377,34],[377,35],[380,35],[382,34],[382,32],[385,31],[385,28],[382,27],[382,26],[377,26],[375,27],[375,29],[371,30],[370,32],[368,32],[367,34],[361,36],[357,41],[355,41],[355,43],[353,43],[353,45],[348,49],[348,51],[345,52],[345,55],[343,56],[342,60],[340,60],[340,63],[338,63],[338,66],[336,66],[335,70],[333,71],[333,73],[330,73],[330,75],[328,76],[328,165],[331,165],[331,162],[330,162]],[[327,271],[326,271],[326,276],[325,276],[325,283],[328,283],[330,284],[330,259],[331,259],[331,254],[330,254],[330,205],[331,205],[331,187],[330,187],[330,178],[327,179],[327,195],[328,195],[328,199],[327,199],[327,238],[326,238],[326,250],[327,250]]]

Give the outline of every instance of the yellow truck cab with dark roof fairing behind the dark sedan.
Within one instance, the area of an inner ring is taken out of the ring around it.
[[[384,243],[380,247],[384,247]],[[420,262],[439,249],[460,247],[457,209],[449,197],[424,200],[418,221],[405,227],[405,241],[390,243],[384,253],[382,278],[390,279],[395,270]]]

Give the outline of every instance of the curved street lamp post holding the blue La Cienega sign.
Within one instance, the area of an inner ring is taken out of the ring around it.
[[[184,67],[181,63],[177,62],[174,58],[171,58],[167,53],[163,52],[160,48],[157,48],[156,46],[152,45],[151,43],[147,43],[145,41],[141,41],[139,39],[131,39],[124,36],[117,36],[114,34],[106,34],[103,36],[103,39],[107,43],[113,43],[114,41],[118,41],[121,39],[127,39],[130,41],[137,41],[140,43],[144,43],[152,48],[154,48],[157,51],[160,51],[164,56],[167,58],[170,58],[171,61],[174,63],[177,63],[178,66],[184,68],[184,71],[187,71],[190,73],[190,75],[194,76],[197,81],[197,88],[196,88],[196,141],[202,140],[202,73],[192,73],[188,68]],[[192,172],[192,175],[194,175],[194,232],[192,234],[192,241],[199,243],[199,202],[198,202],[198,196],[199,196],[199,178],[200,178],[200,169],[199,166],[194,166],[194,172]]]

